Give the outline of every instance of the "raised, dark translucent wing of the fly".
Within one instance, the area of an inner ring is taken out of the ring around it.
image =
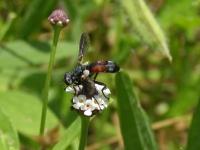
[[[79,42],[78,64],[81,64],[83,56],[89,47],[90,39],[87,33],[82,33]]]

